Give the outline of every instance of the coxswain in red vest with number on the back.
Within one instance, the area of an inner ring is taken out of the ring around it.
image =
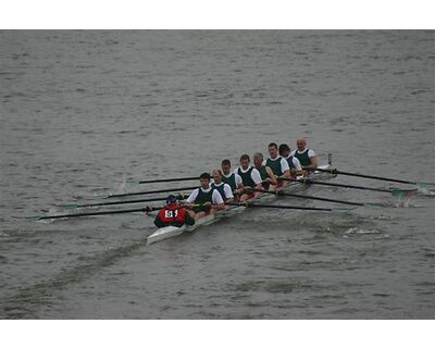
[[[182,227],[185,224],[194,225],[195,219],[190,216],[185,208],[179,206],[174,195],[170,195],[166,198],[166,206],[159,210],[154,224],[159,228],[166,226]]]

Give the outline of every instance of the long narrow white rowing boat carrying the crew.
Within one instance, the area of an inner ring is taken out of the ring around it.
[[[320,165],[319,169],[331,170],[332,166],[331,166],[331,164],[326,164],[326,165]],[[332,178],[335,176],[336,176],[335,174],[331,174],[327,172],[315,171],[314,173],[311,174],[310,177],[326,179],[326,178]],[[301,189],[303,187],[304,187],[304,184],[302,184],[302,183],[291,182],[287,187],[278,188],[278,190],[287,192],[287,191],[295,191],[295,190]],[[276,197],[277,196],[275,196],[275,195],[263,194],[258,198],[250,199],[249,202],[265,202],[265,201],[274,200],[274,199],[276,199]],[[232,206],[226,210],[221,210],[221,211],[215,212],[214,214],[209,214],[201,219],[198,219],[195,222],[195,225],[192,225],[192,226],[183,225],[182,227],[176,227],[176,226],[161,227],[147,238],[147,245],[150,245],[152,243],[160,241],[163,239],[167,239],[171,237],[178,236],[184,232],[191,232],[194,229],[197,229],[200,226],[211,225],[223,217],[233,216],[235,214],[241,213],[247,208],[248,208],[247,206]]]

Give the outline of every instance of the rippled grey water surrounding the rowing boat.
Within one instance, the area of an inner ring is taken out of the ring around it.
[[[22,219],[299,137],[343,171],[435,182],[434,66],[430,30],[0,32],[0,318],[435,319],[427,187],[312,186],[385,207],[254,210],[150,246],[141,213]]]

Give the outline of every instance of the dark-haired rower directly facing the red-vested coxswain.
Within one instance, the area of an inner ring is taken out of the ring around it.
[[[221,194],[210,187],[210,178],[209,173],[202,173],[199,176],[201,186],[196,188],[186,199],[186,207],[190,216],[195,217],[195,220],[225,209]]]

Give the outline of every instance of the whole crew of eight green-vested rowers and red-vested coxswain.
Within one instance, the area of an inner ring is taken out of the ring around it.
[[[306,139],[298,139],[296,145],[297,150],[290,151],[286,144],[278,147],[271,142],[266,160],[256,152],[252,166],[249,156],[243,154],[240,166],[234,171],[231,161],[223,160],[221,170],[214,170],[212,175],[200,175],[200,187],[190,194],[183,207],[175,196],[170,195],[166,206],[156,217],[156,225],[192,225],[195,220],[226,209],[227,203],[244,202],[259,197],[263,190],[274,191],[298,176],[308,175],[318,167],[318,158],[313,150],[307,148]],[[213,183],[210,183],[211,178]]]

